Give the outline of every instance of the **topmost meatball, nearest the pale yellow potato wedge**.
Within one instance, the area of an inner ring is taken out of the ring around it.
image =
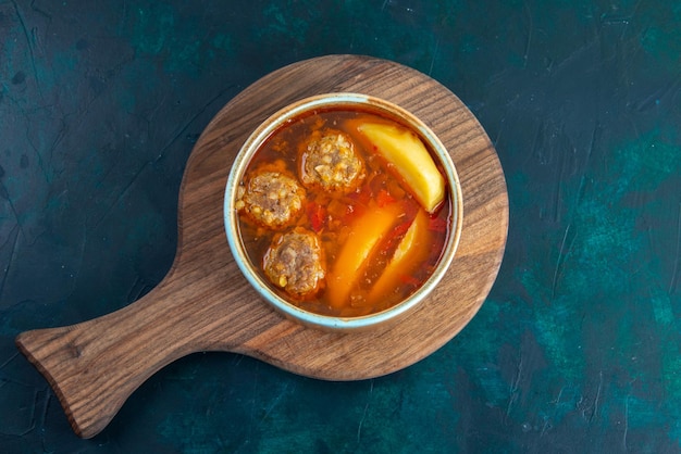
[[[300,147],[300,180],[309,189],[348,193],[364,179],[364,163],[355,143],[335,129],[315,130]]]

